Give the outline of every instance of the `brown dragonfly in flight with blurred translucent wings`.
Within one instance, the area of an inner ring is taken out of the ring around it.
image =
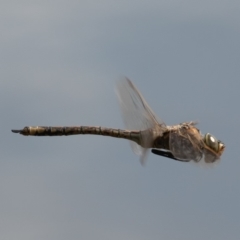
[[[48,127],[27,126],[12,130],[25,136],[68,136],[92,134],[130,140],[133,151],[143,164],[151,152],[181,162],[214,163],[225,145],[210,133],[202,135],[196,122],[167,126],[152,111],[137,87],[128,79],[117,85],[117,95],[125,126],[129,130],[100,126]]]

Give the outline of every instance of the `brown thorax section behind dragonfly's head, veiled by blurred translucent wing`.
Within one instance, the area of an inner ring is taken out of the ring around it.
[[[203,157],[203,146],[199,130],[191,123],[182,125],[170,133],[170,151],[180,160],[199,162]]]

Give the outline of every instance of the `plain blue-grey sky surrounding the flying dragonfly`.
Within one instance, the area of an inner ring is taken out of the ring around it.
[[[240,2],[0,3],[0,239],[237,240]],[[27,125],[123,128],[129,77],[172,125],[198,120],[226,144],[205,169],[125,140],[24,137]]]

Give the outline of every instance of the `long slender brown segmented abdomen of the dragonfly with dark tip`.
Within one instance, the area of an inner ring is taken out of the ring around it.
[[[25,136],[68,136],[78,134],[92,134],[110,136],[115,138],[124,138],[139,144],[140,131],[129,131],[114,128],[91,127],[91,126],[73,126],[73,127],[25,127],[22,130],[12,130],[14,133],[20,133]]]

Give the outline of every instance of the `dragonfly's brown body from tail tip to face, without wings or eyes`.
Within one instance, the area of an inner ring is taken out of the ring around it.
[[[160,125],[159,125],[160,126]],[[205,162],[214,162],[221,156],[224,146],[218,151],[211,149],[205,142],[194,123],[182,123],[166,127],[160,134],[158,128],[146,129],[143,131],[130,131],[114,128],[94,126],[73,126],[73,127],[25,127],[22,130],[12,130],[25,136],[69,136],[78,134],[92,134],[123,138],[133,141],[141,147],[163,149],[171,151],[176,159],[188,162],[198,162],[205,155]],[[147,139],[147,141],[146,141]]]

